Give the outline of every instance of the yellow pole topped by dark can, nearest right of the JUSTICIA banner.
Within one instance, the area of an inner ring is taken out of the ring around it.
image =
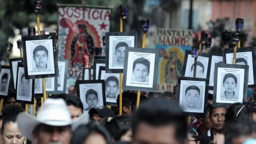
[[[120,4],[120,32],[123,32],[123,19],[126,19],[128,16],[128,7],[123,6]],[[123,73],[120,73],[119,75],[119,115],[122,115],[122,109],[123,109]]]

